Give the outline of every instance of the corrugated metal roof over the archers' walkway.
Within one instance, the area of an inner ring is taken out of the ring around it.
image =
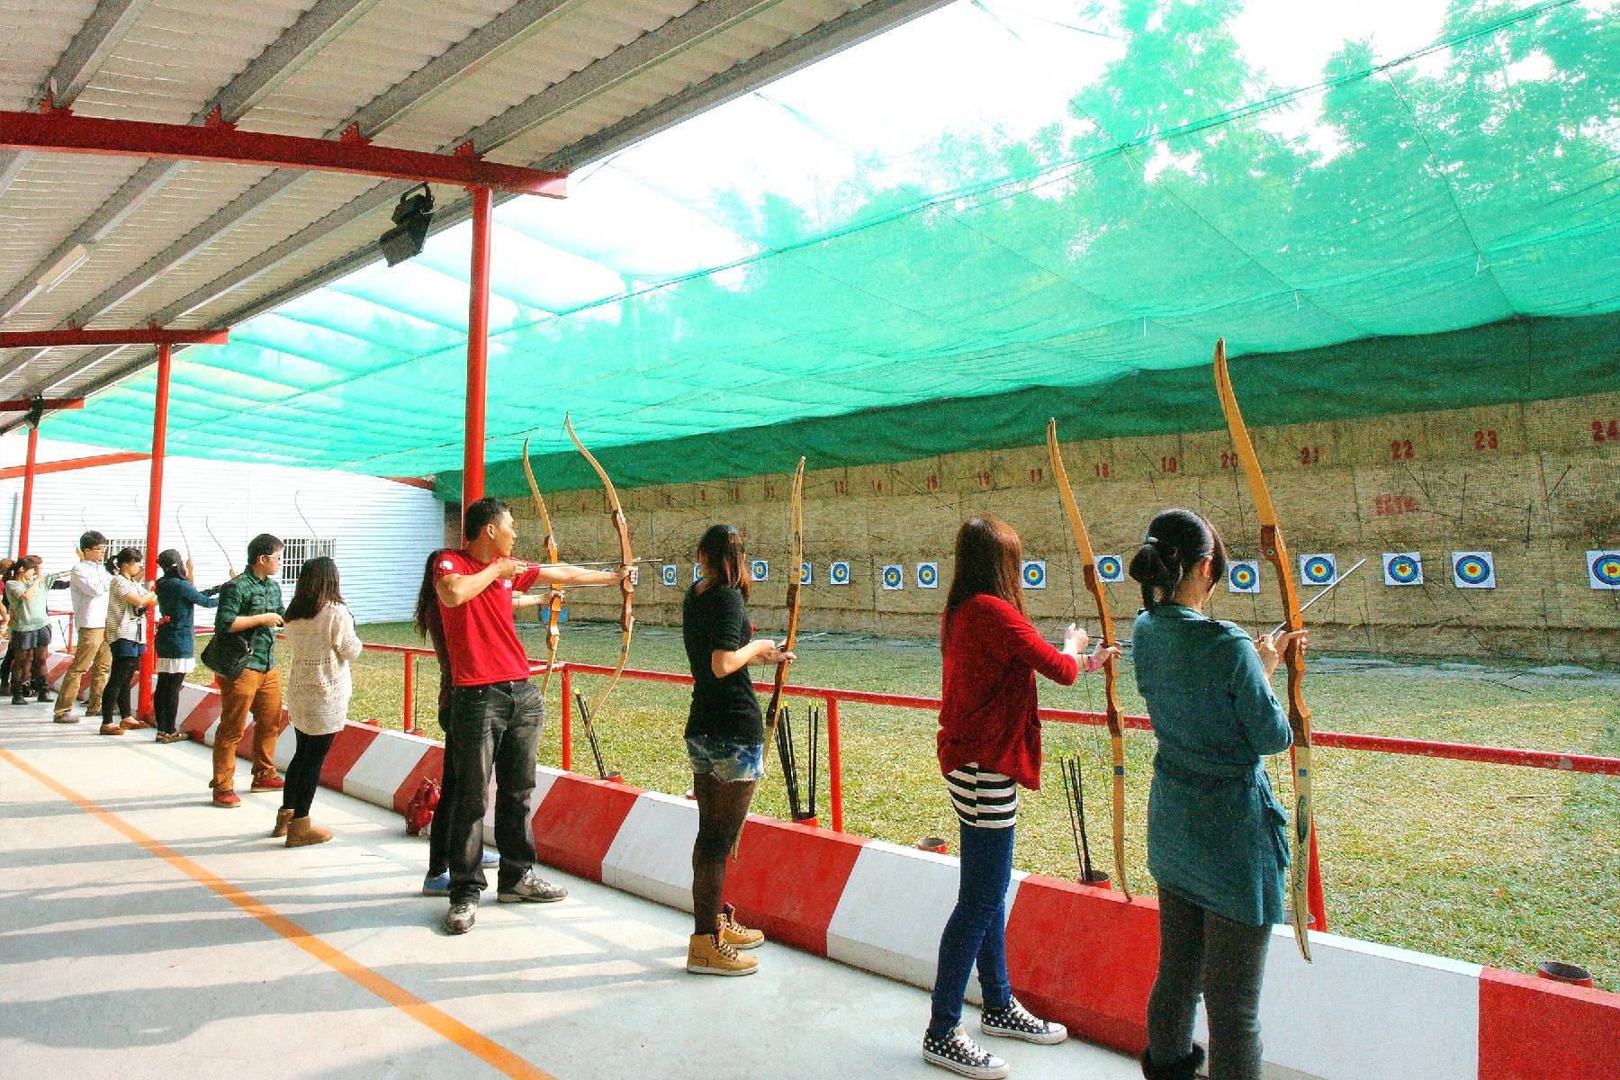
[[[0,0],[0,108],[31,108],[53,83],[57,104],[79,115],[199,123],[219,105],[246,130],[334,136],[358,121],[387,146],[475,138],[492,160],[577,167],[935,6]],[[781,49],[812,31],[802,49]],[[0,325],[235,322],[369,257],[402,186],[0,152]],[[465,215],[457,194],[441,193],[441,227]],[[0,398],[96,390],[139,359],[0,353]]]

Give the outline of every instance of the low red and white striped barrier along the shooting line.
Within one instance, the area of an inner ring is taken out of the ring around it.
[[[60,678],[65,665],[50,670]],[[217,691],[188,685],[180,714],[185,730],[212,743]],[[280,764],[290,756],[287,735]],[[249,745],[243,738],[238,753]],[[347,724],[321,782],[403,811],[421,779],[439,776],[442,758],[433,740]],[[693,803],[544,766],[535,780],[530,821],[541,861],[690,910]],[[726,884],[739,916],[773,941],[930,988],[957,861],[750,816]],[[1311,946],[1315,963],[1307,965],[1291,931],[1275,931],[1260,1007],[1268,1072],[1278,1077],[1620,1080],[1620,994],[1338,934],[1312,934]],[[1139,1054],[1158,963],[1158,905],[1014,874],[1008,963],[1037,1014]]]

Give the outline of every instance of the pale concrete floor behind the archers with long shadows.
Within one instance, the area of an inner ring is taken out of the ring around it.
[[[564,904],[486,894],[447,938],[397,814],[322,790],[337,839],[287,850],[245,767],[243,806],[215,810],[209,751],[151,740],[0,704],[8,1077],[948,1075],[919,1057],[920,989],[770,944],[755,976],[692,976],[687,915],[557,873]],[[1139,1075],[1076,1040],[990,1043],[1029,1080]]]

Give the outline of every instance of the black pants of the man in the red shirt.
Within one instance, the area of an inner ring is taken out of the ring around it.
[[[450,725],[444,729],[449,814],[446,848],[450,861],[450,904],[476,904],[484,878],[484,811],[489,776],[496,777],[496,847],[501,850],[501,887],[515,886],[535,865],[535,834],[528,827],[528,797],[535,790],[535,750],[546,701],[528,682],[457,687],[450,695]],[[450,767],[455,776],[450,779]],[[431,840],[431,837],[429,837]]]

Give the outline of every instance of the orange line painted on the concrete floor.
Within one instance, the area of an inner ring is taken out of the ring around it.
[[[94,816],[102,824],[134,840],[147,852],[159,857],[160,860],[164,860],[175,870],[181,871],[188,878],[207,886],[219,895],[225,897],[227,900],[240,907],[243,912],[259,920],[261,923],[274,929],[277,934],[293,942],[295,946],[298,946],[300,949],[303,949],[311,957],[327,965],[343,978],[371,991],[387,1004],[394,1006],[410,1018],[421,1023],[423,1027],[429,1028],[431,1031],[436,1031],[437,1035],[444,1036],[446,1040],[465,1049],[468,1054],[473,1054],[480,1061],[489,1064],[497,1072],[507,1077],[514,1077],[517,1080],[556,1080],[556,1077],[552,1077],[549,1072],[536,1069],[535,1065],[528,1064],[526,1061],[509,1051],[505,1046],[501,1046],[494,1040],[480,1035],[478,1031],[467,1027],[460,1020],[447,1015],[446,1012],[428,1004],[416,994],[410,993],[399,983],[389,981],[387,978],[377,975],[376,972],[360,963],[358,960],[342,952],[340,949],[334,949],[321,938],[316,938],[314,934],[311,934],[309,931],[306,931],[303,926],[292,921],[285,915],[280,915],[274,908],[261,904],[259,900],[243,892],[241,889],[225,881],[224,878],[211,874],[198,863],[193,863],[190,858],[175,852],[160,840],[156,840],[146,832],[141,832],[133,824],[130,824],[118,814],[112,813],[110,810],[102,810],[94,801],[84,798],[73,789],[58,784],[57,780],[45,776],[44,772],[28,764],[26,761],[10,753],[8,750],[0,748],[0,758],[11,763],[16,769],[26,772],[28,776],[34,777],[36,780],[53,790],[57,795],[62,795],[84,813]]]

